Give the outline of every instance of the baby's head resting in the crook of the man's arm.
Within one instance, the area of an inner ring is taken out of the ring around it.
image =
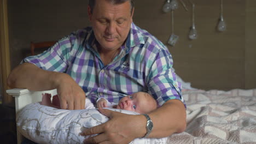
[[[117,109],[149,113],[158,107],[156,100],[148,93],[137,92],[120,99]]]

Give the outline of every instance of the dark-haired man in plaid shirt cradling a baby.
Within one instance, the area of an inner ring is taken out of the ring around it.
[[[92,28],[72,33],[41,55],[26,58],[11,71],[9,86],[33,91],[57,88],[61,108],[69,110],[83,109],[85,93],[92,103],[101,97],[117,103],[139,91],[158,101],[160,107],[148,115],[99,109],[110,120],[83,131],[82,135],[99,134],[85,143],[129,143],[137,137],[181,133],[186,113],[171,70],[172,57],[159,40],[132,23],[133,12],[129,0],[90,0]]]

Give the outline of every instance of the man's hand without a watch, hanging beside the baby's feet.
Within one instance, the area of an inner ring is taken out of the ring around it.
[[[62,73],[56,88],[60,99],[61,109],[84,109],[85,93],[69,75]]]

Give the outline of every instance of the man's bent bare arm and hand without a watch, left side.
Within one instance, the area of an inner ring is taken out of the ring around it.
[[[67,74],[47,71],[31,63],[23,63],[13,69],[8,77],[11,88],[27,88],[31,91],[57,89],[61,109],[84,109],[85,93]]]

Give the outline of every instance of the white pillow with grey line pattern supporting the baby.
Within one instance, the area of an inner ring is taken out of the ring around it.
[[[110,109],[130,115],[136,112]],[[94,127],[108,121],[96,109],[61,110],[54,107],[32,103],[17,113],[16,123],[18,131],[37,143],[83,143],[89,136],[80,136],[86,128]],[[135,139],[131,143],[166,143],[167,137],[162,139]]]

